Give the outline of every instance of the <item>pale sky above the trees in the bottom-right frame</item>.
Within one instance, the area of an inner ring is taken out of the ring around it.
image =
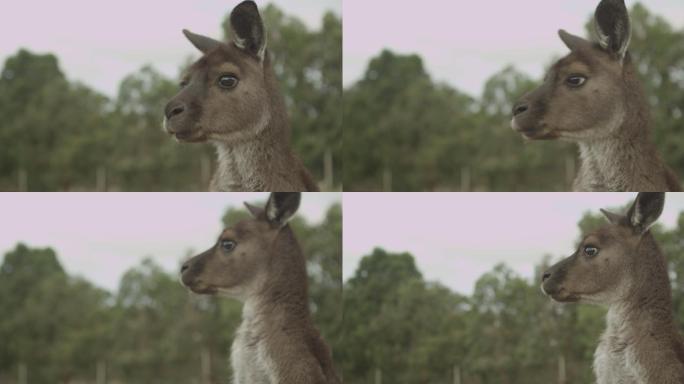
[[[470,294],[498,263],[532,278],[542,257],[574,252],[589,211],[631,203],[635,193],[345,193],[343,278],[381,247],[410,252],[429,281]],[[676,226],[684,193],[669,193],[659,223]],[[616,211],[617,212],[617,211]]]

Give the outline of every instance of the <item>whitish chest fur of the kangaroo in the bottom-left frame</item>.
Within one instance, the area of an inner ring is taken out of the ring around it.
[[[243,320],[231,347],[233,384],[275,384],[274,364],[265,338]]]

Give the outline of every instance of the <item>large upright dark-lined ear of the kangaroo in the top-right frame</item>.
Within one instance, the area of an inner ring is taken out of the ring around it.
[[[632,30],[624,0],[602,0],[594,13],[599,45],[622,61],[627,53]]]

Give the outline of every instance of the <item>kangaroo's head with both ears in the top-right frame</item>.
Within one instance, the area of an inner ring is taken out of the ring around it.
[[[551,67],[541,86],[515,103],[514,131],[527,139],[580,141],[610,136],[622,125],[634,81],[624,0],[601,1],[594,25],[598,44],[559,31],[570,54]]]

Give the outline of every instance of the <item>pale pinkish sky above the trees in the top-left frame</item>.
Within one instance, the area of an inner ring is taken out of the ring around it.
[[[176,78],[198,57],[181,30],[222,38],[221,23],[238,0],[21,0],[0,12],[0,65],[20,47],[55,53],[70,80],[113,96],[128,74],[151,64]],[[270,0],[287,15],[319,28],[323,14],[341,14],[341,0]],[[268,26],[267,26],[268,28]]]

